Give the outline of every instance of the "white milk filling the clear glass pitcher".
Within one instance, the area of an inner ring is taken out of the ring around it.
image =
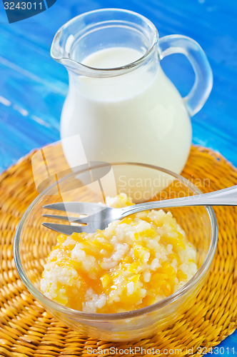
[[[114,68],[141,56],[136,50],[116,47],[97,51],[83,63]],[[88,161],[135,161],[181,172],[191,145],[191,121],[158,59],[152,67],[143,65],[121,76],[70,74],[70,81],[61,138],[76,134],[81,138],[78,146],[75,141],[63,144],[71,167],[82,164],[82,144]]]

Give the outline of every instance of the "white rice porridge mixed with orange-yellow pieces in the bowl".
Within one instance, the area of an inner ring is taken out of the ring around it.
[[[106,204],[133,204],[125,195]],[[94,313],[131,311],[161,301],[197,271],[196,249],[170,212],[151,210],[104,231],[59,235],[41,278],[45,296]]]

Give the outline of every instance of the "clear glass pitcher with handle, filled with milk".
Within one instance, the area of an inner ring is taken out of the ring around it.
[[[184,54],[195,83],[182,98],[161,59]],[[57,31],[51,56],[69,72],[61,139],[69,165],[142,162],[180,173],[191,146],[190,116],[208,98],[213,77],[201,47],[186,36],[158,39],[140,14],[101,9]]]

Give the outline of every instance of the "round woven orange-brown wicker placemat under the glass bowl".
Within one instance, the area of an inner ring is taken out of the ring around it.
[[[81,336],[46,313],[21,283],[12,249],[16,226],[37,196],[31,156],[21,159],[0,176],[0,356],[101,356],[100,350],[111,346],[123,351],[126,346],[140,346],[146,351],[166,348],[170,355],[173,350],[173,356],[177,353],[178,356],[201,356],[233,333],[237,326],[236,207],[214,209],[218,246],[208,281],[193,307],[168,330],[136,343],[109,343]],[[203,192],[237,184],[237,170],[228,161],[218,153],[197,146],[191,149],[183,176],[198,183]],[[89,355],[89,347],[90,351],[96,349],[94,355]],[[181,352],[175,352],[177,349]]]

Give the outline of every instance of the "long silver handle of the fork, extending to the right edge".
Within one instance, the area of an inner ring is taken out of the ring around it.
[[[237,206],[237,185],[223,188],[223,190],[203,193],[200,195],[138,203],[134,206],[128,206],[123,209],[125,213],[124,216],[126,216],[128,211],[129,214],[131,214],[153,208],[181,206]]]

